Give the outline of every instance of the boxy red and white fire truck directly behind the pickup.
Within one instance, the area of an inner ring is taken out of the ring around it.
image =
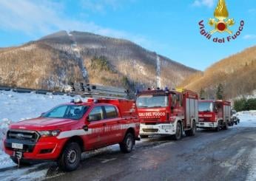
[[[138,92],[136,104],[141,118],[140,136],[171,135],[180,140],[183,131],[192,136],[198,123],[198,95],[186,89]]]

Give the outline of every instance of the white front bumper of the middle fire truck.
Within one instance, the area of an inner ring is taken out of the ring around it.
[[[146,125],[141,123],[140,134],[141,135],[169,135],[175,134],[175,125],[173,123],[162,123],[155,125]]]

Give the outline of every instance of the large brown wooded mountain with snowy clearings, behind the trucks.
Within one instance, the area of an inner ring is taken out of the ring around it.
[[[198,72],[124,39],[61,31],[0,49],[0,84],[63,89],[87,82],[127,89],[175,87]]]

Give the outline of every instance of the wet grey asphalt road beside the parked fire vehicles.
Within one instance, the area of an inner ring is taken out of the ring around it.
[[[256,180],[255,150],[256,128],[199,130],[179,141],[146,139],[130,154],[96,151],[70,173],[52,165],[47,180]]]

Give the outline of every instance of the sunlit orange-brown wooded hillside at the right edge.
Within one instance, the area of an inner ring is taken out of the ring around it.
[[[205,72],[190,75],[181,86],[198,93],[205,92],[206,98],[215,98],[220,84],[226,99],[252,94],[256,89],[256,47],[224,58]]]

